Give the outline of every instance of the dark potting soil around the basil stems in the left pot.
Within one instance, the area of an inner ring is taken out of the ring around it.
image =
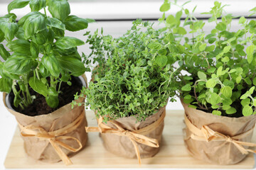
[[[71,103],[74,100],[74,95],[77,92],[80,92],[80,89],[82,89],[82,82],[78,77],[72,77],[71,83],[72,83],[71,86],[69,86],[65,82],[61,84],[61,87],[60,87],[61,93],[58,96],[58,99],[59,99],[58,108],[61,108],[68,103]],[[46,115],[58,109],[58,108],[50,108],[46,103],[46,98],[43,95],[36,93],[36,91],[33,91],[33,89],[31,88],[29,89],[29,91],[31,92],[31,96],[33,95],[36,96],[36,99],[33,100],[33,104],[31,104],[30,106],[28,106],[28,108],[25,108],[24,110],[22,110],[20,106],[18,108],[14,107],[14,104],[12,102],[14,101],[14,94],[13,92],[11,92],[10,94],[11,106],[18,113],[23,113],[24,115],[29,115],[29,116],[36,116],[36,115]]]

